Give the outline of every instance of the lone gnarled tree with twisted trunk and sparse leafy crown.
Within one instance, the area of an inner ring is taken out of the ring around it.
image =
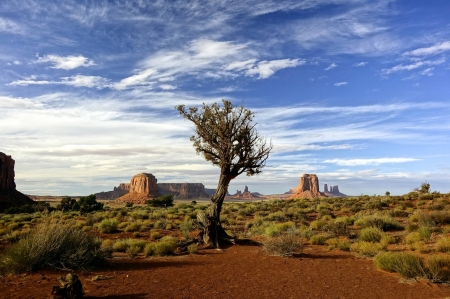
[[[206,226],[204,242],[219,247],[219,240],[233,241],[220,223],[230,181],[242,173],[248,176],[261,173],[273,146],[256,131],[255,114],[243,105],[234,106],[230,101],[222,100],[222,105],[203,104],[201,108],[179,105],[175,108],[195,125],[191,141],[197,154],[220,168],[207,219],[199,219]]]

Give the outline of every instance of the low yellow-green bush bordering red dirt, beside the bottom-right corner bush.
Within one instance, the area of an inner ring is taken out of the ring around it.
[[[422,260],[406,252],[381,252],[374,257],[378,269],[397,272],[403,278],[417,278],[426,275]]]

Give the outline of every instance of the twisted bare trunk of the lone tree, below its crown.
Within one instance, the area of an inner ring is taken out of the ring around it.
[[[216,193],[211,196],[211,206],[209,208],[208,224],[205,227],[203,240],[209,247],[220,248],[219,242],[225,241],[234,243],[234,238],[229,236],[222,228],[220,222],[220,212],[222,211],[222,204],[227,195],[228,184],[231,178],[229,176],[220,175],[219,183],[217,184]]]

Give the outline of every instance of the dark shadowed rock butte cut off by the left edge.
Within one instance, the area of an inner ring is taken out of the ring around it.
[[[0,152],[0,212],[9,207],[34,203],[28,196],[16,190],[14,163],[11,156]]]

